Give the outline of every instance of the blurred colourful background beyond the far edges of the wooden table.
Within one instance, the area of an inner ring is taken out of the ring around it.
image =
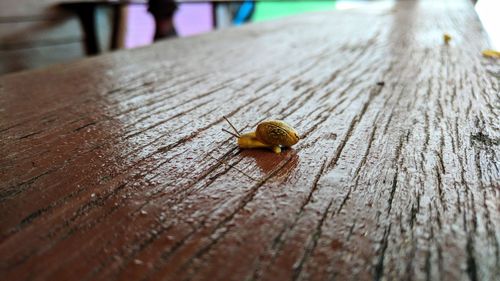
[[[173,33],[192,36],[301,13],[353,9],[370,1],[177,1]],[[500,47],[500,0],[473,1],[492,47]],[[154,42],[147,0],[1,0],[0,75]],[[495,30],[496,28],[496,30]]]

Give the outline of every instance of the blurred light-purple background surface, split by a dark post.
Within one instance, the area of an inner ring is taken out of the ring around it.
[[[179,36],[189,36],[212,30],[212,6],[209,3],[179,5],[174,17]],[[134,48],[152,43],[153,18],[145,5],[131,5],[128,8],[125,47]]]

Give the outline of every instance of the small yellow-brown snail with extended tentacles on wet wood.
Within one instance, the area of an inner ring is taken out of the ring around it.
[[[235,134],[222,129],[238,139],[240,148],[270,148],[275,153],[281,153],[281,147],[291,147],[299,141],[299,134],[290,125],[279,120],[267,120],[259,123],[255,132],[240,134],[236,127],[229,122]]]

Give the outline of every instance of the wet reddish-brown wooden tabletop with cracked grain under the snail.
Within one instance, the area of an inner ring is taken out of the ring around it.
[[[374,7],[1,77],[2,280],[498,280],[499,63],[468,1]]]

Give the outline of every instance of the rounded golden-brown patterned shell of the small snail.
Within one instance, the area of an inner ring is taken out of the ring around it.
[[[299,134],[283,121],[268,120],[257,125],[256,137],[269,145],[290,147],[299,141]]]

